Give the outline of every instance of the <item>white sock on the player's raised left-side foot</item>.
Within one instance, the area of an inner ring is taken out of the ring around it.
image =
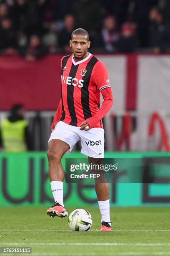
[[[53,181],[51,182],[52,195],[54,201],[64,206],[63,203],[63,182]]]

